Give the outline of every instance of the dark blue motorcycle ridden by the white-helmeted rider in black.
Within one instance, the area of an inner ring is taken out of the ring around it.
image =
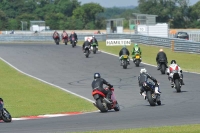
[[[155,106],[156,104],[161,105],[160,94],[155,93],[155,89],[156,89],[156,87],[159,88],[159,84],[158,83],[153,84],[152,82],[144,82],[143,86],[145,88],[147,100],[148,100],[149,104],[151,106]]]

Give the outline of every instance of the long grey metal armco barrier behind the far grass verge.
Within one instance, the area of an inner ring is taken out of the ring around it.
[[[93,36],[93,34],[78,34],[78,40],[84,41],[86,36]],[[173,51],[200,53],[200,43],[188,41],[177,38],[153,37],[136,34],[98,34],[95,35],[98,41],[105,41],[106,39],[131,39],[132,42],[138,44],[147,44],[171,48]],[[45,36],[40,34],[32,35],[17,35],[7,34],[0,35],[0,42],[16,42],[16,41],[53,41],[52,36]]]

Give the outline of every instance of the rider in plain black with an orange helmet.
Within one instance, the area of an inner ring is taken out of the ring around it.
[[[168,63],[167,56],[166,56],[165,52],[163,51],[163,49],[160,49],[157,56],[156,56],[156,62],[157,62],[157,65],[158,65],[157,70],[160,70],[160,61],[161,60],[164,60],[166,66],[167,66],[167,63]]]

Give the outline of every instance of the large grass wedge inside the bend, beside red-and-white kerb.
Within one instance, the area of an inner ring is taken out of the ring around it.
[[[97,110],[92,103],[28,77],[0,60],[0,90],[12,117]]]

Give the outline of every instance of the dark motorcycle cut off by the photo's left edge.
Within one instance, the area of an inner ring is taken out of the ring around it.
[[[6,110],[6,108],[3,108],[3,101],[0,101],[0,104],[2,106],[2,109],[0,111],[0,120],[3,120],[4,122],[11,122],[12,121],[12,117],[10,115],[10,113]]]

